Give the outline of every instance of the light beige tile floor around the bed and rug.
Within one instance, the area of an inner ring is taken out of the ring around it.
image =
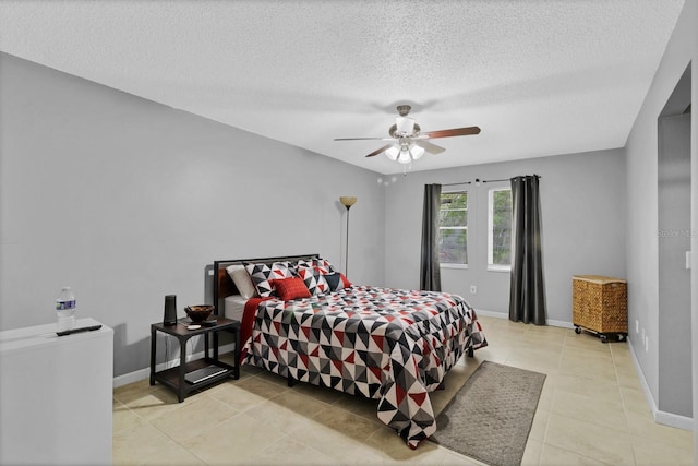
[[[693,432],[654,423],[626,343],[481,318],[488,348],[464,357],[432,394],[441,411],[483,360],[547,374],[525,465],[693,465]],[[178,403],[147,380],[113,392],[116,465],[478,465],[423,442],[410,450],[376,402],[243,367],[240,380]]]

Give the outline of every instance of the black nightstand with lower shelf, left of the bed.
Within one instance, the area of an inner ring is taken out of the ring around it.
[[[193,391],[208,386],[232,375],[240,378],[240,322],[230,319],[214,316],[216,325],[204,326],[197,330],[189,330],[189,318],[179,319],[176,325],[164,325],[161,322],[151,325],[151,385],[160,382],[163,385],[177,393],[179,402]],[[180,346],[180,365],[159,372],[155,370],[155,355],[157,349],[156,333],[163,332],[177,337]],[[234,366],[230,366],[218,359],[218,332],[230,332],[234,335]],[[209,357],[208,336],[213,334],[213,358]],[[186,361],[186,342],[197,335],[204,335],[204,357],[193,361]]]

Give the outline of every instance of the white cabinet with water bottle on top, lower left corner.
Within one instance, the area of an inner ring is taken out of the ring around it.
[[[0,464],[110,464],[112,358],[105,325],[61,337],[56,324],[0,332]]]

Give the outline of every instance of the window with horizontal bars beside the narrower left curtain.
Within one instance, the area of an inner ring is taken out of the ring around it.
[[[455,266],[468,265],[468,192],[441,194],[438,212],[438,261]]]

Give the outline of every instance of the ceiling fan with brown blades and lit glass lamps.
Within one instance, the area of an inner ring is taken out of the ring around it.
[[[424,152],[441,154],[445,151],[444,147],[429,142],[428,140],[430,139],[467,136],[480,133],[480,128],[478,127],[421,132],[421,128],[414,122],[414,119],[408,117],[411,109],[412,107],[409,105],[397,106],[399,117],[395,118],[395,124],[388,129],[390,138],[336,138],[335,141],[392,141],[390,144],[373,151],[366,157],[373,157],[384,152],[393,162],[410,164],[424,155]]]

